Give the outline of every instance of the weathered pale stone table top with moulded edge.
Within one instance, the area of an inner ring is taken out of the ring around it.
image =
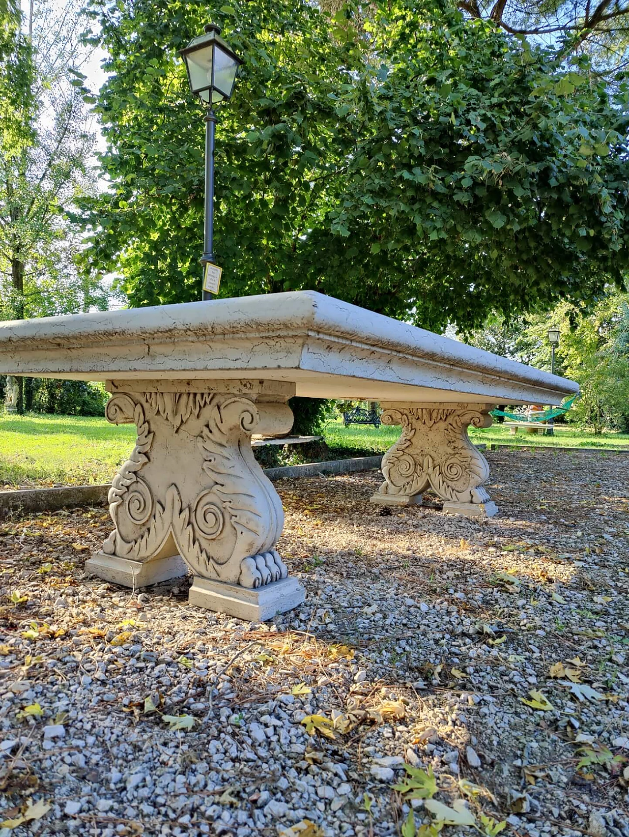
[[[579,389],[309,290],[4,322],[0,374],[214,388],[258,378],[311,398],[417,403],[558,404]]]

